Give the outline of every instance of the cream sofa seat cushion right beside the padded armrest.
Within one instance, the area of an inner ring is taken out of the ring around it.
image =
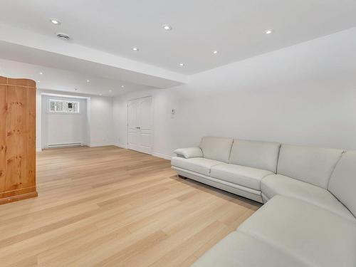
[[[204,159],[203,157],[193,157],[191,159],[186,159],[184,157],[172,157],[172,166],[181,169],[188,169],[192,172],[197,172],[199,174],[204,174],[210,176],[211,167],[221,164],[217,160]]]

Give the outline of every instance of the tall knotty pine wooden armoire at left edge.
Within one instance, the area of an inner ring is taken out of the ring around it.
[[[0,204],[36,196],[36,83],[0,76]]]

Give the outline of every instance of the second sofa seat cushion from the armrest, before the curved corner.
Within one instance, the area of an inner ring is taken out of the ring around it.
[[[273,172],[264,169],[255,169],[235,164],[219,164],[211,167],[210,176],[261,191],[261,179],[271,174]]]

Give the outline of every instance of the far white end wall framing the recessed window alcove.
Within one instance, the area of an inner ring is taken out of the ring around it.
[[[51,93],[63,95],[63,92],[53,90],[37,90],[36,98],[36,150],[40,151],[43,147],[43,136],[41,129],[43,127],[41,94]],[[64,93],[66,94],[66,93]],[[112,98],[95,95],[73,94],[71,97],[86,98],[87,103],[87,122],[85,132],[87,135],[86,143],[92,147],[102,145],[112,145]],[[84,111],[84,110],[83,110]]]

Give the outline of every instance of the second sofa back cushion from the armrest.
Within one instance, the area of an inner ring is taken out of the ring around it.
[[[280,143],[234,140],[229,163],[277,172]]]

